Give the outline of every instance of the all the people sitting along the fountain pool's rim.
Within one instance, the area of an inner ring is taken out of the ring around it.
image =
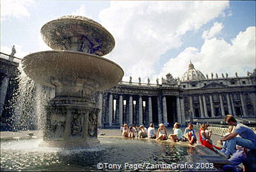
[[[199,140],[196,139],[192,123],[188,124],[188,127],[186,127],[184,132],[180,129],[180,123],[174,123],[172,134],[169,136],[163,123],[159,124],[157,132],[153,123],[150,123],[148,129],[143,125],[140,125],[139,127],[131,125],[128,127],[127,124],[124,124],[121,126],[121,132],[123,137],[129,138],[148,137],[149,139],[156,139],[156,141],[166,139],[170,139],[173,142],[188,141],[189,145],[194,145],[194,143],[199,142],[201,145],[219,153],[230,161],[230,164],[225,165],[223,169],[236,171],[236,166],[245,162],[248,152],[256,151],[256,134],[250,127],[237,122],[236,118],[232,115],[227,115],[225,121],[229,126],[227,134],[221,138],[222,146],[214,146],[212,144],[212,131],[209,129],[207,123],[200,125],[198,131]]]

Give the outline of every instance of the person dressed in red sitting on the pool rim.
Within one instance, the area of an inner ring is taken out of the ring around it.
[[[216,150],[214,150],[214,148],[216,148],[217,150],[221,150],[221,148],[220,147],[218,147],[218,146],[214,146],[214,145],[212,145],[212,143],[210,143],[210,137],[207,135],[207,134],[205,134],[205,129],[207,128],[207,127],[205,127],[205,123],[203,123],[201,126],[200,126],[200,130],[199,130],[199,141],[200,141],[200,143],[201,143],[201,145],[203,145],[203,146],[205,146],[205,147],[207,147],[207,148],[209,148],[210,150],[212,150],[212,151],[214,151],[214,152],[216,152]],[[207,126],[207,125],[206,125]]]

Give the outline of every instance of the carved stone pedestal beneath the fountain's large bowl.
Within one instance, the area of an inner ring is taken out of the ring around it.
[[[95,102],[83,98],[53,98],[47,108],[41,146],[74,148],[99,143]]]

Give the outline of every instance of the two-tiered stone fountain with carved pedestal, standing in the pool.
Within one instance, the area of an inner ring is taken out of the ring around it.
[[[71,15],[47,22],[41,35],[54,50],[35,52],[22,60],[26,75],[55,89],[40,145],[76,148],[99,143],[99,109],[92,93],[112,88],[124,76],[120,66],[101,57],[113,50],[113,36],[99,23]]]

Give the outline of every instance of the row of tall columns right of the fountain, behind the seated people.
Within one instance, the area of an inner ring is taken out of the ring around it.
[[[101,100],[100,100],[101,99]],[[115,104],[114,104],[115,101]],[[102,93],[99,94],[99,107],[102,107]],[[167,111],[166,96],[122,95],[108,93],[104,113],[99,111],[99,126],[121,125],[124,123],[149,125],[150,123],[168,123],[173,118],[185,123],[184,100],[175,97],[175,114]],[[154,109],[153,109],[154,108]],[[169,107],[170,108],[170,107]]]

